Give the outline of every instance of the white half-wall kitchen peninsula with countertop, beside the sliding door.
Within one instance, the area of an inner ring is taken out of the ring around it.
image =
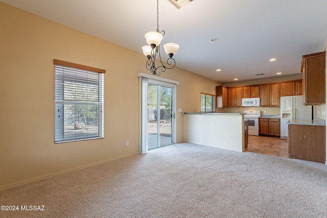
[[[245,151],[244,113],[182,113],[184,141],[237,152]]]

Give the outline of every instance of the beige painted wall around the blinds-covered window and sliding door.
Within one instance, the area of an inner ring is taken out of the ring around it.
[[[136,53],[3,3],[0,29],[0,189],[138,153],[136,75],[148,73],[141,48]],[[54,144],[53,59],[106,69],[103,139]],[[220,85],[178,67],[162,77],[180,82],[183,111],[199,110],[200,92],[214,94]]]

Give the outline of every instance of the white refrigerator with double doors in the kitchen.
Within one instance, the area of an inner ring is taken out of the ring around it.
[[[281,138],[287,139],[289,120],[312,119],[312,106],[302,104],[302,95],[281,97]]]

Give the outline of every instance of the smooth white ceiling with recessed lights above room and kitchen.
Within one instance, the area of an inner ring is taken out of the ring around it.
[[[157,26],[155,0],[0,2],[142,54],[144,34]],[[166,32],[161,43],[180,45],[174,55],[176,66],[209,79],[229,83],[235,78],[295,75],[300,73],[302,55],[322,50],[327,1],[194,0],[177,9],[168,0],[159,0],[159,28]],[[219,41],[210,42],[212,38]],[[270,62],[271,58],[277,60]]]

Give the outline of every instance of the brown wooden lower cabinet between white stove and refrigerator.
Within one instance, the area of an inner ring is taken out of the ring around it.
[[[259,118],[260,135],[281,135],[281,119],[279,118]]]

